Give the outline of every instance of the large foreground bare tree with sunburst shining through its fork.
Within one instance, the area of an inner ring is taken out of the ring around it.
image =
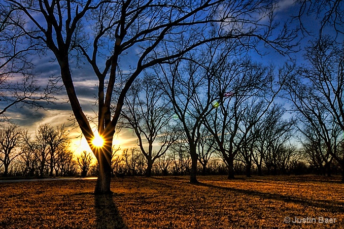
[[[110,192],[111,144],[115,127],[125,94],[145,69],[173,60],[209,41],[235,39],[248,47],[263,41],[284,52],[295,39],[295,34],[288,31],[287,26],[279,27],[272,21],[276,4],[263,0],[6,0],[1,5],[12,10],[10,18],[23,15],[26,26],[11,22],[33,43],[46,47],[56,58],[74,116],[99,162],[96,193]],[[281,28],[281,34],[270,39],[271,31],[277,27]],[[120,57],[132,53],[133,47],[139,48],[140,54],[137,57],[132,54],[131,58],[136,61],[134,67],[127,75],[121,75],[123,72],[117,71]],[[84,60],[88,62],[99,81],[97,124],[98,133],[106,142],[104,147],[92,145],[94,134],[73,83],[74,57],[77,57],[77,64]],[[115,85],[122,87],[115,112],[111,112]]]

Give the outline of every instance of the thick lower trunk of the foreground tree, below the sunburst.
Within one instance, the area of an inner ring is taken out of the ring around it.
[[[102,148],[95,148],[95,156],[98,160],[99,171],[98,179],[95,185],[94,194],[112,193],[110,189],[111,183],[111,145]]]

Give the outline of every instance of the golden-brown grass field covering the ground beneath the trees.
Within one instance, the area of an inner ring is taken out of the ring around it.
[[[114,178],[112,196],[94,195],[95,180],[3,183],[0,227],[344,228],[339,177],[198,180]],[[306,222],[286,223],[285,217]]]

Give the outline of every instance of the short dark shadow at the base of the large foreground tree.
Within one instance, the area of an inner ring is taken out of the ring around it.
[[[114,203],[113,194],[94,195],[94,206],[97,228],[128,228]]]

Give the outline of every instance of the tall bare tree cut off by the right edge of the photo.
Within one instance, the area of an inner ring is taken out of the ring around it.
[[[338,146],[344,132],[344,49],[329,37],[307,47],[308,66],[300,67],[286,84],[286,92],[294,109],[306,126],[321,136],[328,153],[339,163],[344,181],[344,157]]]

